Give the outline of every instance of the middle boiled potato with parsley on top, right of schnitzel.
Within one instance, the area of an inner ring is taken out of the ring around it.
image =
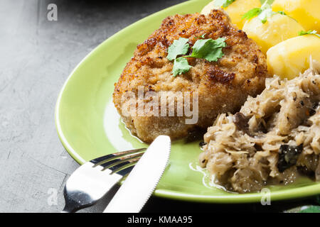
[[[262,23],[256,16],[245,22],[242,30],[260,45],[262,52],[266,53],[277,43],[299,35],[299,31],[304,28],[293,18],[277,13],[268,17],[266,23]]]

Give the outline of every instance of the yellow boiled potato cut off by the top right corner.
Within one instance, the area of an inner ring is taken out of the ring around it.
[[[320,32],[320,0],[275,0],[273,11],[284,11],[308,30]]]

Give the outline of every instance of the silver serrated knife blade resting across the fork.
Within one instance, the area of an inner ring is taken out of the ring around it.
[[[114,195],[104,213],[138,213],[156,189],[169,162],[171,140],[159,135]]]

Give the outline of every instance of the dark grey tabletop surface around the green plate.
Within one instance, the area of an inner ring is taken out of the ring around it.
[[[63,208],[63,186],[78,167],[55,131],[55,101],[65,79],[117,31],[181,2],[0,1],[0,212]],[[47,20],[50,3],[58,6],[58,21]],[[50,205],[55,192],[57,203]],[[100,212],[106,201],[82,212]],[[311,203],[196,204],[151,197],[143,211],[282,211]]]

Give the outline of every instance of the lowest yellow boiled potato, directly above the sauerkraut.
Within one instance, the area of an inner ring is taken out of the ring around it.
[[[320,38],[302,35],[274,45],[267,51],[267,66],[271,74],[292,79],[309,68],[310,55],[320,62]]]

